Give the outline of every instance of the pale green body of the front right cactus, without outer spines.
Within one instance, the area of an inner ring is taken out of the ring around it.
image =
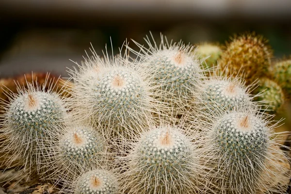
[[[213,126],[213,158],[226,191],[253,194],[265,184],[260,177],[266,170],[269,138],[264,121],[251,113],[228,113]]]

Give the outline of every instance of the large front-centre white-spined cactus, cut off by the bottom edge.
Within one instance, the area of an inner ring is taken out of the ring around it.
[[[202,167],[191,139],[178,128],[161,126],[142,134],[125,159],[126,171],[120,177],[125,193],[197,192]]]

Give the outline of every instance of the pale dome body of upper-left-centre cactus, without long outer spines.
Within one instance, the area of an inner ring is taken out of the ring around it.
[[[102,109],[107,113],[113,112],[114,114],[109,115],[111,119],[120,118],[128,110],[143,105],[146,92],[142,82],[132,70],[106,69],[92,84],[90,104],[94,104],[95,109]]]

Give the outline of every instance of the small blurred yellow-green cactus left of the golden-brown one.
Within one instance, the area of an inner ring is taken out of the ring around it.
[[[198,45],[195,55],[202,61],[202,68],[209,69],[217,65],[217,60],[221,58],[222,49],[218,45],[204,43]]]

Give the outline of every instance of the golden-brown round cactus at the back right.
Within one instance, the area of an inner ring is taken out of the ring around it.
[[[271,65],[272,51],[267,40],[255,33],[243,34],[226,45],[219,65],[228,75],[244,77],[251,84],[266,74]]]

